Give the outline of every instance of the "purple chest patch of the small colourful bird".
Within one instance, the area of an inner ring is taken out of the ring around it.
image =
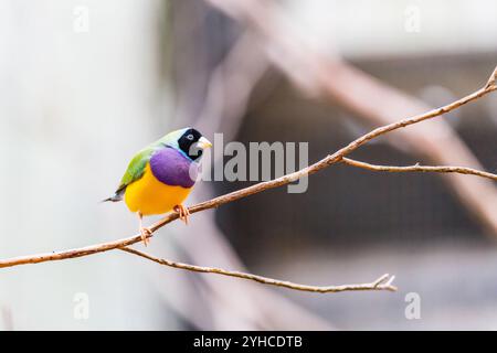
[[[172,186],[191,188],[198,175],[198,164],[173,148],[155,152],[150,169],[160,182]]]

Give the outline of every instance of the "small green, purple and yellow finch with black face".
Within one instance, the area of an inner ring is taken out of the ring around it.
[[[190,194],[198,175],[200,158],[212,143],[193,128],[169,132],[140,150],[129,162],[114,196],[123,199],[139,218],[139,232],[145,245],[151,231],[142,226],[142,217],[170,211],[188,224],[190,212],[183,201]]]

